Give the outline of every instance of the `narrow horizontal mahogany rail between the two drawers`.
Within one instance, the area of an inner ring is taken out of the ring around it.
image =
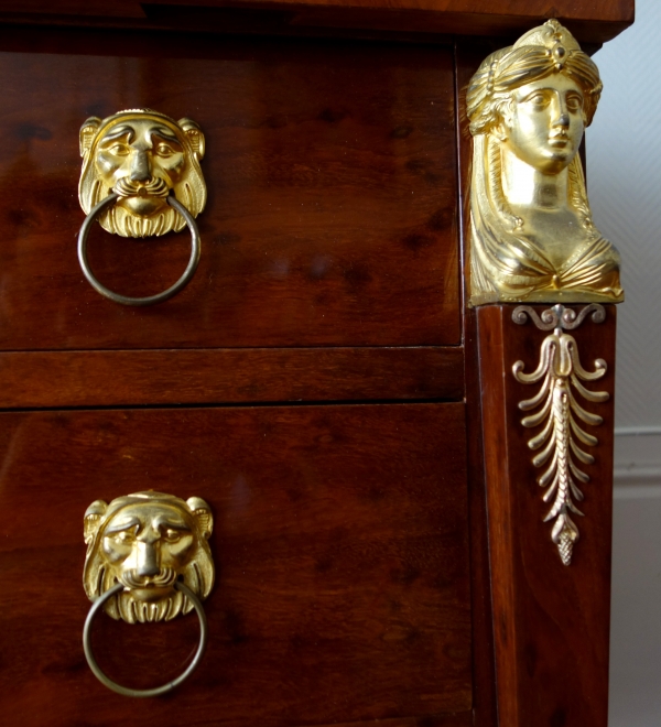
[[[464,395],[453,348],[250,348],[0,354],[0,408]]]

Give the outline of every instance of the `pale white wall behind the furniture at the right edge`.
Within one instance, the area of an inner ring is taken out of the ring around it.
[[[594,59],[595,223],[622,256],[618,311],[610,727],[661,725],[661,2]]]

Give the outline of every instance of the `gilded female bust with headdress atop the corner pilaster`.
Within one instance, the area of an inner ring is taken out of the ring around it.
[[[577,154],[600,93],[597,66],[556,20],[473,76],[473,305],[622,300],[619,254],[593,225]]]

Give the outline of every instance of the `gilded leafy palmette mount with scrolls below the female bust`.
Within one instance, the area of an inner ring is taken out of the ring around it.
[[[565,565],[572,562],[573,549],[578,540],[578,528],[572,520],[571,513],[583,516],[574,503],[583,500],[584,497],[576,482],[589,481],[589,476],[581,470],[576,463],[590,465],[595,462],[579,444],[588,447],[598,444],[597,437],[585,432],[578,420],[590,425],[598,425],[604,421],[598,414],[584,409],[576,401],[574,391],[588,402],[604,402],[609,398],[608,392],[590,391],[582,383],[582,381],[600,379],[606,373],[606,361],[598,358],[595,361],[595,370],[586,371],[581,365],[575,338],[563,332],[563,329],[577,328],[589,313],[593,322],[605,321],[606,313],[598,304],[586,306],[578,315],[557,304],[544,311],[541,319],[529,306],[519,306],[512,314],[514,323],[520,325],[530,317],[538,328],[553,329],[542,343],[537,369],[532,373],[523,373],[523,361],[517,361],[512,371],[517,381],[521,383],[542,381],[537,394],[532,399],[519,402],[519,409],[538,410],[521,420],[523,426],[543,426],[540,433],[528,441],[528,446],[533,451],[543,447],[533,457],[532,464],[535,467],[546,465],[538,478],[540,487],[546,487],[544,502],[553,502],[544,522],[555,519],[551,538],[557,545],[560,557]]]

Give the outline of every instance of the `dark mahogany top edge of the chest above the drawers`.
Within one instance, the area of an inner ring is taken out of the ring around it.
[[[517,35],[557,18],[581,41],[604,43],[633,22],[633,0],[44,0],[3,2],[0,22],[181,28],[197,32]]]

